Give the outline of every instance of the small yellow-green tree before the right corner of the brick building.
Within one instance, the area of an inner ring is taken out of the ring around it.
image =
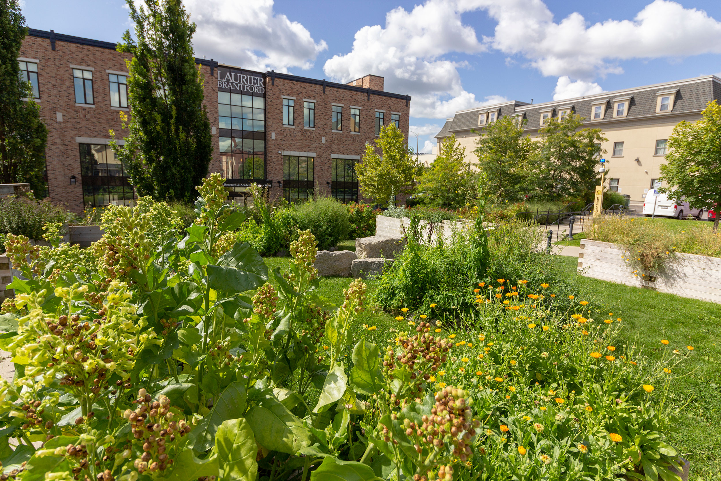
[[[382,127],[376,145],[366,144],[362,162],[355,167],[363,196],[384,206],[392,195],[412,193],[420,174],[412,154],[395,124]]]

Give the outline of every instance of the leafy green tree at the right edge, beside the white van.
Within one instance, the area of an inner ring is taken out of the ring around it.
[[[660,180],[667,184],[659,190],[693,208],[716,211],[714,230],[719,226],[721,206],[721,106],[709,102],[696,122],[683,120],[668,138],[666,163],[661,165]]]

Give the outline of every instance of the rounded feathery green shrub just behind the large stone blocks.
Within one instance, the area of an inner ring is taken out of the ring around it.
[[[335,198],[317,198],[294,205],[293,220],[301,231],[311,231],[319,250],[327,250],[348,239],[348,210]]]

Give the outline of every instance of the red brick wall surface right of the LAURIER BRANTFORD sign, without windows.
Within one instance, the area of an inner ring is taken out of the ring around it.
[[[380,77],[382,79],[382,77]],[[283,126],[282,96],[296,97],[295,127]],[[315,128],[303,126],[303,100],[314,100]],[[332,104],[343,105],[343,131],[331,130]],[[350,107],[361,107],[361,132],[350,132]],[[405,99],[385,97],[367,92],[340,89],[327,86],[323,93],[322,85],[308,84],[303,81],[275,79],[266,80],[265,92],[265,134],[267,154],[267,178],[273,180],[271,196],[283,195],[276,180],[283,180],[283,155],[278,151],[314,152],[314,180],[322,192],[330,195],[325,182],[331,180],[331,155],[363,155],[366,142],[372,142],[375,135],[376,109],[385,110],[384,125],[391,122],[391,112],[399,112],[400,131],[407,138],[410,102]],[[275,133],[275,140],[273,140]],[[325,143],[323,143],[325,138]]]

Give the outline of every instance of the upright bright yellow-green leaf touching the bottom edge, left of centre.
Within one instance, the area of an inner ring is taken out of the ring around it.
[[[258,446],[250,425],[243,418],[223,421],[216,433],[216,453],[224,481],[255,481]]]

